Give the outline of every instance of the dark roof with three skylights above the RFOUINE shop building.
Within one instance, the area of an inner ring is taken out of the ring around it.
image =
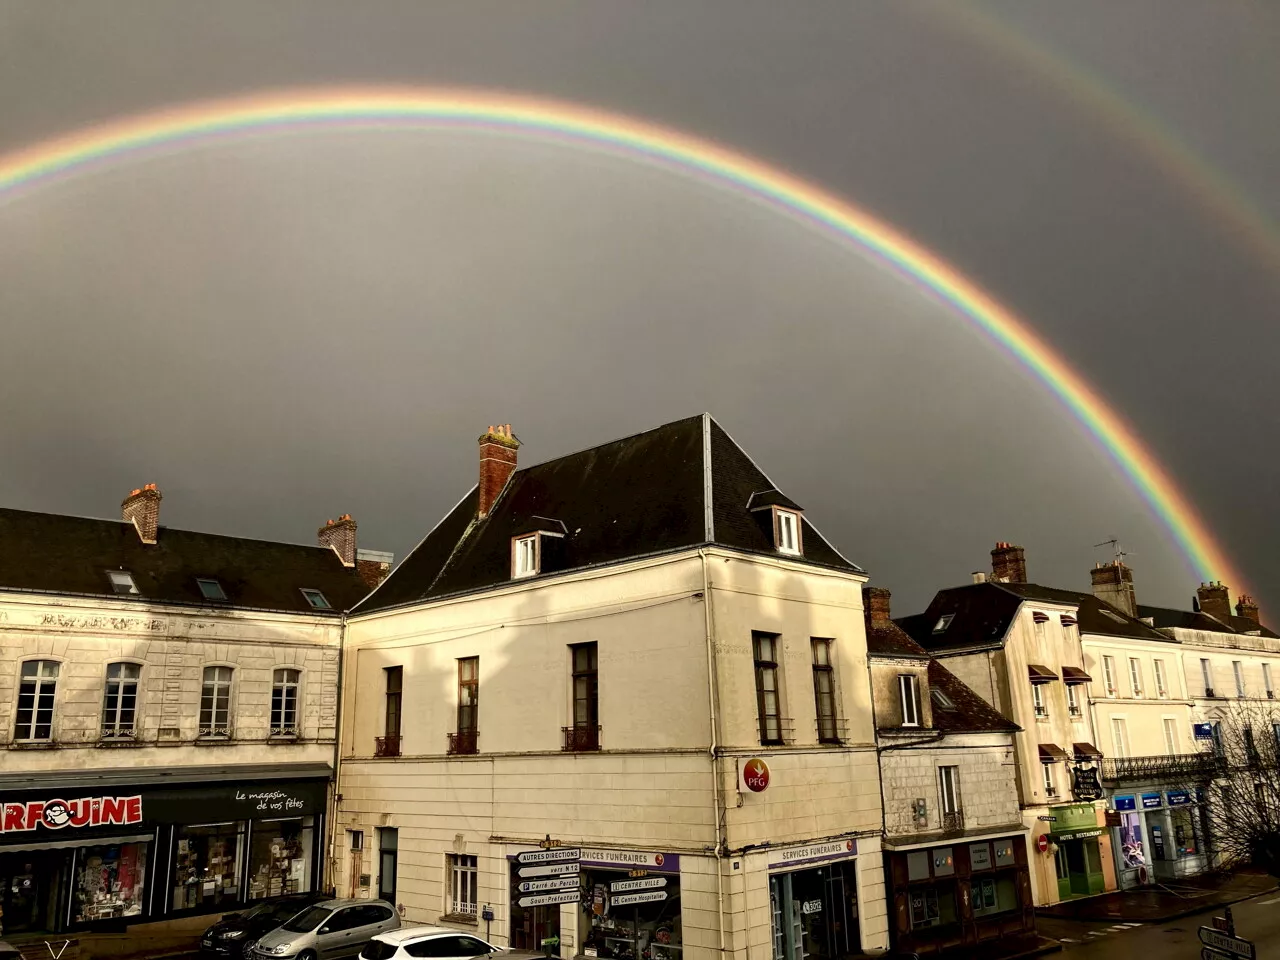
[[[138,594],[115,594],[108,570],[127,570]],[[206,600],[196,584],[221,584],[225,602]],[[353,607],[369,588],[328,547],[301,547],[197,534],[161,526],[143,544],[132,524],[0,508],[0,589],[105,594],[209,607],[316,613],[301,588],[320,590],[333,613]]]

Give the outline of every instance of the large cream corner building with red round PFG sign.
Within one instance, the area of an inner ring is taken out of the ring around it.
[[[887,947],[865,575],[709,416],[518,445],[349,617],[338,892],[566,957]]]

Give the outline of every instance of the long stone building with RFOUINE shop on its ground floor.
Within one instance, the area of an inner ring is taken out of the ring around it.
[[[355,521],[298,547],[0,509],[4,937],[138,937],[323,883]],[[160,923],[157,928],[155,924]]]

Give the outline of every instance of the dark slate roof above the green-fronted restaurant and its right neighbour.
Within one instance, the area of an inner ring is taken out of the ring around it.
[[[989,580],[984,584],[965,584],[940,590],[924,613],[902,617],[896,622],[929,652],[996,646],[1004,643],[1023,600],[1074,605],[1082,634],[1172,643],[1166,634],[1128,616],[1093,594],[1039,584],[1005,584]],[[1143,608],[1138,612],[1147,616]],[[947,628],[934,634],[938,621],[947,614],[952,617]]]

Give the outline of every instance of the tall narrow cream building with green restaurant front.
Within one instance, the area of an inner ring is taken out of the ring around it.
[[[992,573],[938,591],[896,623],[1019,730],[1018,797],[1037,905],[1116,888],[1098,777],[1101,751],[1080,648],[1088,594],[1027,581],[1023,548],[992,550]]]

